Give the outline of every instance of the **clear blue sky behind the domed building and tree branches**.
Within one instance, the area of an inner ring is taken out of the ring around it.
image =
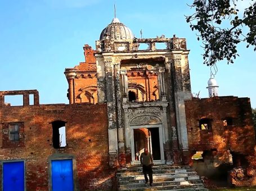
[[[176,34],[187,39],[192,93],[208,97],[210,68],[203,65],[200,42],[186,23],[184,15],[192,13],[186,3],[192,1],[185,0],[1,0],[0,90],[38,89],[41,103],[68,103],[63,72],[84,61],[84,44],[95,48],[113,19],[114,2],[117,17],[136,37],[142,29],[144,38]],[[219,95],[250,97],[255,108],[256,54],[245,47],[239,46],[233,65],[217,64],[215,78]]]

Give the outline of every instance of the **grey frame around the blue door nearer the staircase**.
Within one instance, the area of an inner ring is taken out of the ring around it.
[[[74,191],[78,191],[77,189],[77,162],[75,160],[75,156],[73,154],[65,154],[65,153],[54,153],[50,157],[48,157],[48,189],[52,191],[52,161],[55,160],[72,160],[73,167],[73,189]]]

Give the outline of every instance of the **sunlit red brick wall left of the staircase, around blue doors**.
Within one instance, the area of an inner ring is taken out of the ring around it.
[[[113,190],[115,171],[108,164],[105,104],[5,106],[0,107],[0,120],[1,160],[25,160],[27,190],[48,190],[49,159],[68,155],[76,163],[75,183],[79,190]],[[66,122],[65,148],[52,146],[51,122],[56,120]],[[10,122],[24,122],[24,147],[4,147],[3,132]]]

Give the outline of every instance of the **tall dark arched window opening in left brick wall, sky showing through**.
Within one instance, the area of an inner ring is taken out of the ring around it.
[[[66,147],[66,127],[64,121],[52,122],[52,145],[53,148]]]

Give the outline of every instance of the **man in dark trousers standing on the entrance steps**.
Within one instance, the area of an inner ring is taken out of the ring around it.
[[[152,154],[149,153],[149,150],[147,150],[147,148],[144,148],[144,152],[141,153],[140,161],[141,161],[142,171],[144,174],[146,184],[149,183],[151,187],[153,183],[153,175],[152,175],[153,157],[152,157]],[[147,174],[149,174],[149,179],[147,178]]]

